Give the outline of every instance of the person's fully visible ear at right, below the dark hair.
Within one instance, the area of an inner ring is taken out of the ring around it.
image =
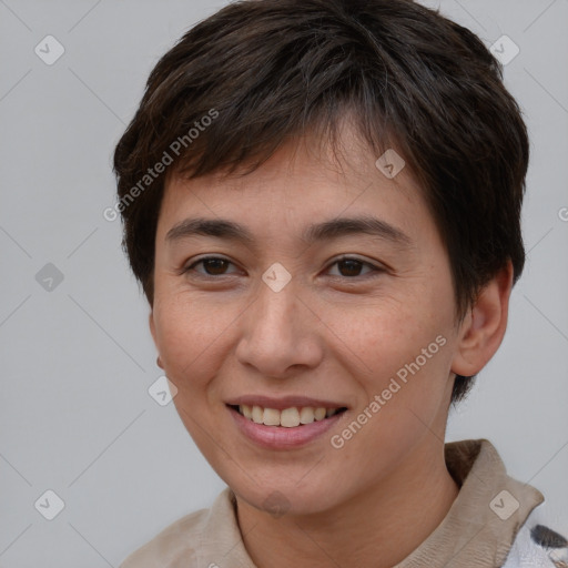
[[[513,264],[508,261],[481,288],[459,326],[452,363],[452,371],[457,375],[476,375],[499,348],[507,328],[511,288]]]

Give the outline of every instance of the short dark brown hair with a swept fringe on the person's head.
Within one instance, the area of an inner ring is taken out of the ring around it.
[[[123,246],[150,304],[165,175],[149,169],[168,154],[189,179],[253,171],[293,135],[335,140],[347,111],[375,155],[395,148],[423,187],[458,317],[509,260],[516,282],[528,136],[479,38],[412,0],[244,0],[160,59],[114,152]],[[473,378],[457,377],[453,402]]]

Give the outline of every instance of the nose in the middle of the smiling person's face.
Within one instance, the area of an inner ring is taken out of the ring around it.
[[[280,292],[264,283],[241,318],[236,358],[266,377],[286,378],[315,368],[323,357],[320,318],[301,300],[293,281]]]

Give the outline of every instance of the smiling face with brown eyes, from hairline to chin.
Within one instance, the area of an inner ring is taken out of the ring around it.
[[[169,180],[150,315],[211,466],[252,506],[280,496],[297,514],[438,452],[457,342],[447,254],[407,169],[387,179],[355,139],[341,164],[310,148],[241,178]],[[229,406],[243,402],[253,419]]]

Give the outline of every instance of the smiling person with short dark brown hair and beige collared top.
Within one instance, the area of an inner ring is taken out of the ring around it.
[[[227,488],[124,568],[561,566],[542,495],[444,443],[506,331],[528,152],[497,60],[407,0],[235,2],[159,61],[116,211]]]

